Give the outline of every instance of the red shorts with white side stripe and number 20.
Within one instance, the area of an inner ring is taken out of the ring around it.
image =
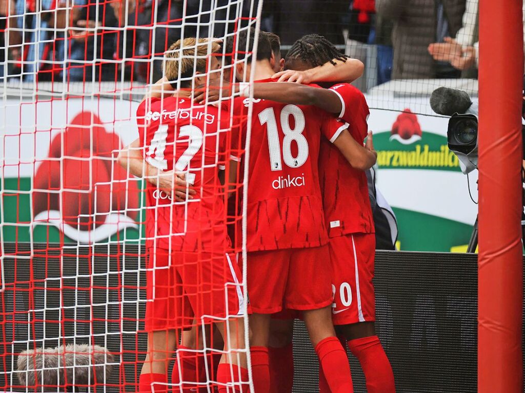
[[[354,233],[331,237],[333,268],[332,321],[334,325],[375,321],[375,234]]]

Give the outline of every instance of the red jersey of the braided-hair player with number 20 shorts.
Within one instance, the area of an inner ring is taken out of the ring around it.
[[[339,117],[349,123],[350,134],[362,144],[368,133],[366,120],[370,114],[363,93],[349,83],[330,89],[341,99]],[[341,152],[326,141],[321,142],[319,162],[329,236],[374,233],[365,172],[352,168]]]

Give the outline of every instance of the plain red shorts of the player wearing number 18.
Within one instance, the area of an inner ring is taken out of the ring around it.
[[[251,310],[272,314],[283,308],[316,310],[332,303],[328,245],[249,252]]]

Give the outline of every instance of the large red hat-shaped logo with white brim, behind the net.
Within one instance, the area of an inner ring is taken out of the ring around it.
[[[53,138],[34,175],[34,221],[52,223],[80,243],[137,227],[139,190],[116,160],[121,148],[97,115],[77,114]]]

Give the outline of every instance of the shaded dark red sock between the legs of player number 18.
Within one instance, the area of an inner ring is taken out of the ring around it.
[[[291,393],[293,386],[293,346],[292,343],[281,348],[268,348],[270,363],[270,391],[272,393]]]

